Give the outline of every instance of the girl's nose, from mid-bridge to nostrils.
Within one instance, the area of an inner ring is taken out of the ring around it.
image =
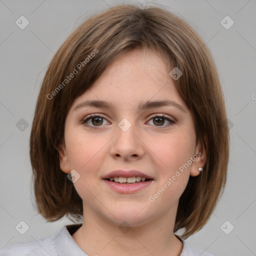
[[[144,155],[144,143],[135,126],[131,124],[128,129],[123,129],[120,123],[116,126],[116,134],[113,137],[110,149],[113,158],[137,160]]]

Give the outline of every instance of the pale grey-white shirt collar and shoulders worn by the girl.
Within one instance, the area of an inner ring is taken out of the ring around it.
[[[0,250],[0,256],[88,256],[71,236],[81,224],[65,225],[56,235],[50,237],[7,246]],[[184,240],[182,242],[180,256],[212,256],[189,246]]]

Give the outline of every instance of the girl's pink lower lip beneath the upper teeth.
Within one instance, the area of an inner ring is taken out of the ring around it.
[[[109,181],[107,179],[103,179],[104,182],[113,190],[119,193],[127,194],[127,193],[133,193],[136,192],[144,187],[149,186],[153,179],[147,180],[147,181],[141,181],[141,182],[136,182],[136,183],[130,183],[130,184],[125,184],[125,183],[117,183],[113,181]]]

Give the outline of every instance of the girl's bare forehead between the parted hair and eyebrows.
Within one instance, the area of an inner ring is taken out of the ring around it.
[[[109,63],[91,87],[75,100],[73,108],[84,100],[108,101],[115,107],[133,104],[137,108],[142,101],[149,100],[183,103],[160,54],[140,49],[128,51]]]

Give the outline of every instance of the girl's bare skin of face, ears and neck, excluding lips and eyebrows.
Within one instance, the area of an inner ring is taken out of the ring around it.
[[[182,242],[173,234],[178,200],[189,175],[199,174],[197,168],[204,165],[206,157],[204,148],[195,143],[192,113],[177,92],[169,71],[156,52],[129,51],[111,62],[92,87],[75,99],[67,113],[65,143],[59,145],[60,168],[65,173],[75,169],[80,175],[73,185],[83,201],[83,222],[72,238],[88,255],[181,253]],[[112,102],[115,108],[73,110],[87,99]],[[174,105],[137,111],[141,101],[163,99],[178,103],[185,112]],[[94,113],[104,117],[100,125],[95,118],[82,123]],[[166,114],[175,123],[167,119],[157,123],[157,114]],[[123,118],[131,124],[127,131],[118,126]],[[200,156],[150,202],[149,196],[197,151]],[[134,193],[119,193],[102,179],[116,169],[136,169],[154,180]],[[118,228],[123,221],[128,223],[126,232]]]

